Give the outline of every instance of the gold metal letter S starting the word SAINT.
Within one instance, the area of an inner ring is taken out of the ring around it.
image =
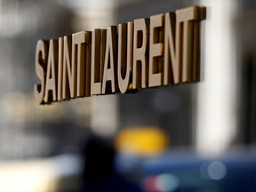
[[[48,41],[38,40],[36,44],[36,76],[41,81],[41,84],[34,85],[34,94],[35,100],[37,104],[44,104],[44,79],[46,73],[46,65],[47,65],[47,55],[48,55]]]

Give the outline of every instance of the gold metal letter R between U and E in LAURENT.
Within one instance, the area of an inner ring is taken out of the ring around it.
[[[134,20],[132,88],[148,86],[148,19]],[[140,66],[139,66],[140,65]]]

